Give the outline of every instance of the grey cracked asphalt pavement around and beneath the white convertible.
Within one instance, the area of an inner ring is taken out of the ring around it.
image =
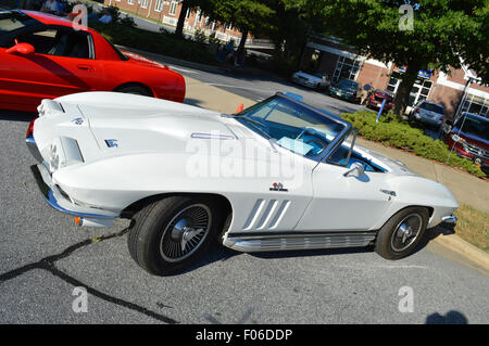
[[[271,81],[262,82],[255,89]],[[303,93],[324,106],[352,106]],[[398,261],[368,247],[268,254],[220,247],[184,273],[149,275],[130,259],[127,221],[77,228],[45,203],[24,143],[30,118],[0,112],[0,323],[487,323],[488,277],[426,242]],[[73,309],[76,287],[87,290],[86,312]]]

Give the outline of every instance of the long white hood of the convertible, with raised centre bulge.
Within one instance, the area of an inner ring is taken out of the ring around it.
[[[86,163],[148,153],[191,155],[201,144],[213,149],[211,139],[239,142],[240,148],[251,140],[267,148],[261,143],[266,143],[265,139],[236,119],[177,102],[116,92],[77,93],[54,101],[64,113],[41,116],[35,125],[36,143],[45,159],[49,145],[59,137],[77,140]],[[251,154],[236,151],[233,156]]]

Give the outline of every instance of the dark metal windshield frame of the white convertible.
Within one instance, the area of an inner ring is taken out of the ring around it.
[[[262,131],[258,131],[253,126],[250,126],[250,127],[247,126],[246,124],[239,121],[239,119],[242,119],[243,117],[247,117],[247,114],[250,111],[254,110],[256,106],[259,106],[261,104],[265,104],[267,102],[271,102],[272,100],[277,99],[277,98],[283,98],[283,99],[285,99],[285,100],[287,100],[289,102],[292,102],[292,103],[294,103],[294,104],[297,104],[299,106],[304,107],[308,111],[314,112],[315,114],[317,114],[317,115],[319,115],[322,117],[325,117],[325,118],[327,118],[329,120],[333,120],[333,121],[335,121],[335,123],[337,123],[337,124],[339,124],[339,125],[341,125],[343,127],[342,130],[339,131],[338,134],[326,145],[326,148],[321,153],[318,153],[315,156],[303,156],[303,155],[300,155],[298,153],[294,153],[293,151],[288,150],[285,146],[278,145],[279,148],[283,148],[283,149],[291,152],[294,155],[299,155],[300,157],[303,157],[305,159],[311,159],[311,161],[318,162],[318,163],[319,162],[324,162],[325,159],[327,159],[335,152],[335,150],[339,145],[341,145],[343,140],[347,138],[348,133],[350,133],[350,131],[353,128],[351,123],[342,119],[341,117],[335,115],[334,113],[328,112],[326,110],[319,110],[319,108],[313,107],[313,106],[311,106],[309,104],[300,102],[299,100],[297,100],[294,98],[291,98],[289,95],[286,95],[286,94],[284,94],[281,92],[277,92],[275,95],[273,95],[273,97],[271,97],[268,99],[265,99],[265,100],[263,100],[263,101],[261,101],[259,103],[255,103],[252,106],[250,106],[250,107],[248,107],[248,108],[246,108],[246,110],[243,110],[243,111],[241,111],[241,112],[239,112],[237,114],[224,115],[224,116],[226,116],[228,118],[235,118],[236,121],[240,123],[242,126],[247,127],[248,129],[252,130],[253,132],[255,132],[256,134],[259,134],[260,137],[262,137],[263,139],[268,141],[271,139],[266,138],[265,136],[263,136]]]

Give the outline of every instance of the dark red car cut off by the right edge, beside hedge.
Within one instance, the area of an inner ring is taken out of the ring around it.
[[[489,170],[489,119],[463,113],[455,123],[442,126],[444,142],[460,156],[466,157]]]

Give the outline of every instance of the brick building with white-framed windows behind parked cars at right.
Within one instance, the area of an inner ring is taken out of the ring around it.
[[[358,55],[354,48],[346,47],[334,38],[312,38],[301,56],[301,68],[326,73],[335,81],[346,78],[356,80],[362,86],[369,82],[374,88],[392,93],[397,92],[404,72],[392,63],[386,65]],[[474,81],[474,73],[467,68],[451,68],[450,74],[421,71],[411,91],[410,105],[427,99],[442,104],[446,116],[452,117],[461,103],[462,112],[489,117],[489,88],[468,82]]]

